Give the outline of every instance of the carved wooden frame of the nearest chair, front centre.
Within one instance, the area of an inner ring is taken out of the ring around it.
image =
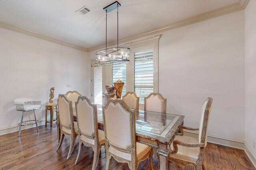
[[[120,148],[114,144],[111,144],[108,140],[107,137],[107,130],[106,130],[106,121],[105,121],[105,109],[108,108],[109,104],[112,103],[114,105],[120,104],[123,109],[126,110],[126,112],[130,113],[130,120],[131,120],[131,140],[132,140],[132,145],[130,145],[127,149]],[[150,166],[153,169],[153,164],[152,164],[152,154],[153,154],[153,149],[151,148],[150,152],[148,154],[145,154],[140,160],[137,158],[137,153],[136,153],[136,127],[135,127],[135,110],[130,109],[125,102],[123,102],[121,99],[109,99],[106,103],[105,106],[102,107],[103,109],[103,121],[104,121],[104,132],[105,132],[105,138],[106,138],[106,170],[109,170],[110,168],[110,162],[111,162],[111,157],[113,157],[117,162],[126,162],[128,163],[128,166],[131,170],[136,170],[138,169],[138,165],[140,161],[145,160],[148,156],[150,159]],[[109,147],[113,147],[116,150],[119,150],[121,152],[126,152],[131,154],[131,161],[126,160],[124,158],[121,158],[119,156],[116,156],[115,154],[112,154],[111,152],[108,151]]]

